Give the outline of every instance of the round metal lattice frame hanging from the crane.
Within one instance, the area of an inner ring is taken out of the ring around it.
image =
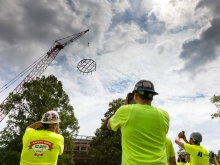
[[[96,70],[96,62],[92,59],[83,59],[78,63],[77,68],[83,75],[84,73],[87,73],[87,75],[89,73],[92,74],[92,72]]]

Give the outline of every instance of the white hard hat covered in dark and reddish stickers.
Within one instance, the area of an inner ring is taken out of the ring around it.
[[[55,124],[60,122],[60,117],[56,111],[48,111],[43,114],[41,122],[44,124]]]

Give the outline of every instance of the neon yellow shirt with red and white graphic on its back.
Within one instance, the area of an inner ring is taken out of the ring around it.
[[[63,136],[51,131],[28,128],[22,141],[20,165],[56,165],[63,153]]]

